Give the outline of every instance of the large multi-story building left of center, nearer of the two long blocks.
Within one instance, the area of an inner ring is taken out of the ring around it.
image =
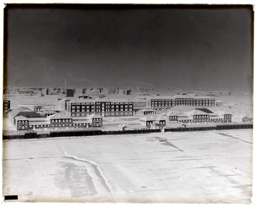
[[[99,114],[107,116],[132,116],[133,102],[125,99],[76,99],[67,102],[67,115],[71,117]]]

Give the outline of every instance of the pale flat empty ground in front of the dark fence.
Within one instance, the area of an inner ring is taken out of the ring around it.
[[[252,141],[252,130],[3,141],[3,195],[250,203]]]

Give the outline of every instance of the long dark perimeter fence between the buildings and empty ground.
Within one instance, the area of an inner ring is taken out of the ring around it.
[[[213,130],[238,130],[253,129],[253,124],[242,125],[215,125],[210,127],[187,127],[187,128],[165,128],[164,132],[192,132],[192,131],[213,131]],[[99,135],[120,135],[120,134],[145,134],[159,133],[161,129],[139,129],[139,130],[81,130],[81,131],[51,131],[50,133],[28,132],[18,135],[3,135],[3,139],[34,139],[64,136],[99,136]]]

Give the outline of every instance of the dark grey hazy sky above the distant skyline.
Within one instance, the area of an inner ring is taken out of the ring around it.
[[[252,7],[7,6],[9,85],[247,87]]]

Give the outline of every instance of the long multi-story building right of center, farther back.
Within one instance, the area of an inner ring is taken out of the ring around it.
[[[174,106],[204,106],[215,107],[215,98],[210,96],[151,96],[147,100],[147,107],[154,110],[169,110]]]

